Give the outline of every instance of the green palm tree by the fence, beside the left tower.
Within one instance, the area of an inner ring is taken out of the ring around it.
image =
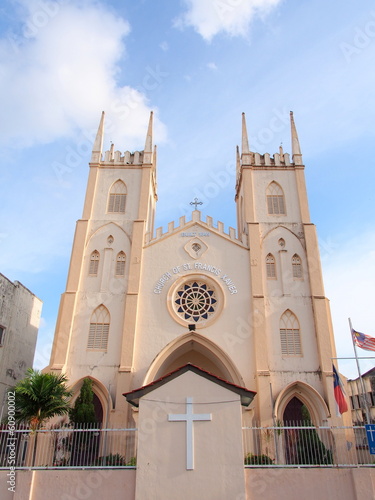
[[[37,431],[52,417],[69,413],[72,391],[67,388],[65,375],[42,373],[29,368],[26,377],[14,387],[15,418]],[[35,436],[33,461],[35,463],[37,436]]]

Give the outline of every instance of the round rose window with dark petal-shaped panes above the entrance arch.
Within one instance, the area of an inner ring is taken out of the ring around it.
[[[199,323],[209,319],[215,312],[217,298],[215,290],[203,281],[185,282],[175,292],[175,311],[185,321]]]

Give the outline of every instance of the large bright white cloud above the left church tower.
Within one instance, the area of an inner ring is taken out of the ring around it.
[[[122,143],[138,147],[150,112],[147,93],[167,76],[146,67],[137,89],[118,83],[128,22],[97,2],[25,2],[19,34],[0,40],[1,141],[19,146],[91,135],[107,110]],[[6,117],[4,119],[4,117]],[[160,140],[165,130],[159,123]]]

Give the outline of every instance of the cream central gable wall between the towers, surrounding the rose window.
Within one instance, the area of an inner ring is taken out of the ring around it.
[[[200,232],[209,234],[200,238],[207,250],[200,258],[193,259],[185,250],[185,246],[193,238],[183,235]],[[212,265],[221,272],[215,275],[195,268],[199,264]],[[190,266],[190,269],[184,268],[184,265]],[[160,293],[154,293],[158,280],[167,272],[171,274],[171,278]],[[225,275],[235,283],[237,293],[231,294],[222,279]],[[215,321],[204,328],[200,328],[198,324],[197,332],[214,342],[230,357],[241,374],[241,385],[255,390],[247,250],[217,234],[217,230],[208,229],[205,224],[200,223],[163,237],[145,248],[136,338],[138,348],[134,359],[134,387],[140,387],[144,383],[147,370],[162,349],[188,331],[188,324],[179,324],[170,314],[168,306],[171,303],[170,290],[189,276],[194,276],[195,279],[202,276],[203,279],[212,280],[215,288],[221,292],[223,301],[222,310]],[[236,336],[236,329],[243,325],[246,329],[245,338]],[[205,366],[202,367],[206,369]]]

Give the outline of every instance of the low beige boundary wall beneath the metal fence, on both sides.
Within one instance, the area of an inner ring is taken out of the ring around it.
[[[18,471],[16,493],[0,471],[1,500],[134,500],[135,470]],[[33,494],[29,493],[34,479]],[[373,500],[373,469],[245,469],[246,496],[228,500]],[[42,485],[37,488],[37,485]],[[153,496],[152,499],[156,498]],[[180,499],[176,495],[176,499]],[[201,496],[199,500],[213,497]],[[151,500],[145,498],[144,500]],[[198,500],[191,498],[191,500]],[[216,500],[216,498],[214,499]]]

